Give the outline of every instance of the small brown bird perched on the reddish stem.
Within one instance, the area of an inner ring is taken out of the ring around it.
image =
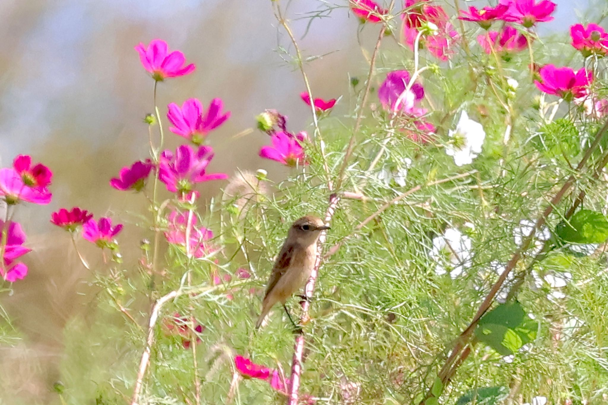
[[[321,231],[328,229],[329,226],[325,226],[322,220],[313,216],[302,217],[291,226],[272,268],[262,301],[262,312],[255,324],[256,329],[260,327],[274,304],[279,301],[294,323],[285,307],[285,301],[308,281],[317,254],[317,239]]]

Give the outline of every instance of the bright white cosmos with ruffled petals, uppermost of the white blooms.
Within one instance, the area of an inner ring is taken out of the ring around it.
[[[482,124],[469,119],[466,111],[460,115],[455,131],[450,130],[447,135],[453,141],[446,146],[446,154],[454,157],[456,166],[472,163],[482,152],[483,140],[486,138]]]

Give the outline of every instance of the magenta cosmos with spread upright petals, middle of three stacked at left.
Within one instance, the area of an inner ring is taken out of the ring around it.
[[[169,131],[181,137],[188,138],[195,145],[201,145],[205,137],[213,129],[218,128],[228,118],[230,111],[222,112],[224,103],[221,98],[214,98],[209,104],[207,113],[202,114],[201,101],[190,98],[184,101],[180,108],[178,104],[171,103],[168,106],[167,118],[173,124]]]

